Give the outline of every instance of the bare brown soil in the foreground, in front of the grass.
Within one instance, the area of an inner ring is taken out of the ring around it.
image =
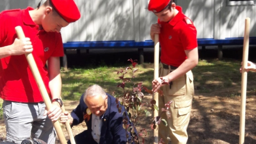
[[[207,94],[206,94],[207,95]],[[151,96],[144,97],[149,101]],[[71,112],[76,108],[78,101],[65,101],[66,111]],[[237,144],[239,143],[240,125],[240,97],[220,97],[196,95],[193,100],[191,118],[188,126],[188,144]],[[245,144],[256,144],[256,96],[246,99],[246,120],[245,120]],[[145,128],[148,135],[145,137],[145,144],[153,143],[153,131],[150,129],[150,118],[141,116],[136,129],[140,131]],[[66,139],[68,133],[65,125],[62,129]],[[85,123],[72,127],[76,135],[86,130]],[[0,137],[5,139],[4,120],[0,120]],[[140,139],[141,141],[141,139]],[[56,143],[60,143],[58,138]]]

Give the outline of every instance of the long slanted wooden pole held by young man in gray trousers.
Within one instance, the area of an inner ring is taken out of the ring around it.
[[[15,31],[16,31],[16,34],[17,34],[19,39],[25,38],[23,30],[22,30],[22,28],[20,26],[15,27]],[[44,82],[43,82],[42,77],[41,77],[41,75],[39,73],[39,70],[38,70],[38,68],[36,66],[36,62],[34,60],[34,57],[33,57],[32,53],[26,53],[25,56],[26,56],[26,58],[28,60],[28,65],[29,65],[29,67],[30,67],[30,69],[31,69],[31,71],[33,73],[33,76],[34,76],[34,78],[36,80],[36,84],[37,84],[37,86],[38,86],[38,88],[40,90],[40,93],[41,93],[42,97],[43,97],[45,106],[49,110],[49,109],[52,108],[52,102],[51,102],[51,100],[49,98],[49,95],[47,93],[47,90],[46,90],[46,88],[44,86]],[[67,144],[65,136],[64,136],[64,134],[62,132],[62,129],[60,127],[59,121],[54,122],[53,126],[54,126],[54,128],[56,130],[56,133],[57,133],[58,137],[59,137],[60,143],[61,144]]]

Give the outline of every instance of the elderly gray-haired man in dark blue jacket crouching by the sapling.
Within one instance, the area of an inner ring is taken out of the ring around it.
[[[122,108],[121,113],[118,112],[118,104]],[[131,131],[127,132],[123,128],[125,108],[119,102],[118,104],[116,98],[107,94],[99,85],[92,85],[82,95],[79,105],[71,114],[66,112],[60,116],[60,122],[68,120],[73,126],[85,121],[87,130],[75,136],[76,144],[135,144],[138,141],[137,132],[134,128],[135,133],[131,134]],[[129,117],[128,124],[132,125]]]

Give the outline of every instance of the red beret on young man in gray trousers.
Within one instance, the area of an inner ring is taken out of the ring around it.
[[[54,9],[67,22],[80,19],[81,14],[74,0],[50,0]]]

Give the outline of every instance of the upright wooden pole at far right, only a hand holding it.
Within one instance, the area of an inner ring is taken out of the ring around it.
[[[244,128],[245,128],[245,104],[246,104],[246,86],[247,86],[247,72],[244,67],[247,66],[248,49],[249,49],[249,32],[250,32],[250,18],[245,19],[244,25],[244,50],[242,62],[242,88],[241,88],[241,111],[240,111],[240,134],[239,144],[244,144]]]

